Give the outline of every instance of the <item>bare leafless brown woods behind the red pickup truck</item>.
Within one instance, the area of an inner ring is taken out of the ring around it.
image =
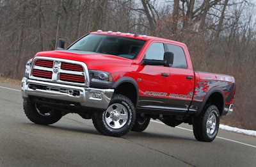
[[[26,61],[38,51],[55,49],[58,38],[65,38],[68,45],[97,29],[146,33],[185,42],[196,70],[235,76],[236,112],[232,122],[224,121],[256,129],[252,123],[256,119],[252,1],[166,0],[159,4],[153,0],[2,0],[0,76],[20,79]]]

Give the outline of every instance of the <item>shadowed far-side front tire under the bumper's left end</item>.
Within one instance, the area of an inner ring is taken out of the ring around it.
[[[24,112],[26,116],[36,124],[50,125],[58,122],[62,117],[60,111],[44,106],[44,104],[36,104],[34,102],[24,100]]]

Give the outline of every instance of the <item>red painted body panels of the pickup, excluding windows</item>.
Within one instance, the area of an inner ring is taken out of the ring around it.
[[[136,86],[138,86],[138,99],[136,99],[138,111],[141,108],[150,106],[150,104],[143,102],[147,101],[150,103],[153,100],[159,102],[155,107],[161,106],[161,103],[166,103],[167,101],[167,104],[164,104],[164,107],[166,107],[165,110],[180,110],[183,114],[188,113],[191,109],[200,111],[205,97],[207,97],[211,90],[215,89],[218,92],[222,91],[226,105],[233,103],[235,93],[234,77],[223,74],[194,72],[188,48],[185,44],[153,36],[143,37],[141,35],[134,36],[124,33],[116,34],[107,32],[93,32],[90,34],[134,38],[145,41],[145,44],[141,48],[138,56],[134,59],[122,58],[110,54],[83,53],[68,50],[38,52],[36,56],[84,62],[88,70],[109,72],[113,77],[114,84],[124,77],[133,79],[136,81]],[[142,65],[142,61],[150,45],[156,42],[181,47],[186,56],[187,67],[173,68],[159,65]],[[225,114],[223,113],[223,115]]]

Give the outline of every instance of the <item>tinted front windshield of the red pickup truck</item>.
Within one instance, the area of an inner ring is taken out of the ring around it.
[[[86,35],[68,50],[88,51],[112,54],[123,58],[134,59],[138,56],[145,40],[111,35]]]

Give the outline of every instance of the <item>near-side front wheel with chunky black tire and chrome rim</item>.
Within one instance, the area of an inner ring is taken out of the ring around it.
[[[131,100],[124,95],[114,95],[104,112],[93,113],[93,125],[100,133],[120,137],[131,131],[136,111]]]

